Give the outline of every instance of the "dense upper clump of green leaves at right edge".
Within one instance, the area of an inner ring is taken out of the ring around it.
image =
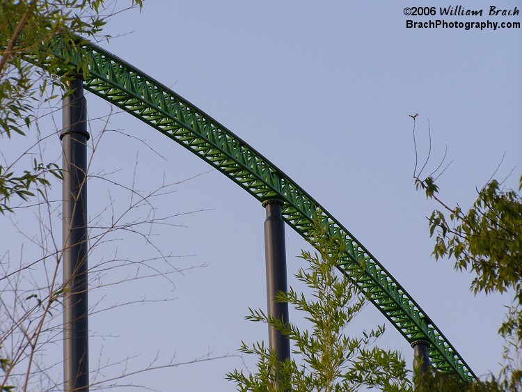
[[[502,191],[496,180],[481,189],[473,207],[450,212],[450,224],[438,210],[430,217],[436,237],[435,257],[457,260],[455,268],[476,274],[473,292],[505,292],[514,288],[522,300],[522,199],[515,191]]]

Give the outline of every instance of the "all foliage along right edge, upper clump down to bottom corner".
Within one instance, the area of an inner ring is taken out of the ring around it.
[[[432,177],[415,177],[416,189],[425,191],[443,209],[429,217],[429,233],[436,235],[433,254],[454,258],[454,268],[473,274],[470,290],[478,292],[509,292],[514,295],[499,333],[505,338],[505,367],[499,381],[477,384],[478,389],[451,391],[520,391],[522,370],[519,359],[522,349],[522,197],[513,189],[503,189],[491,180],[482,189],[473,206],[466,212],[457,205],[449,207],[438,198],[438,187]],[[519,191],[522,189],[520,178]],[[475,385],[475,384],[474,384]],[[485,388],[485,389],[480,389]],[[491,388],[491,389],[487,389]],[[500,389],[502,388],[502,389]],[[446,389],[432,389],[444,390]]]

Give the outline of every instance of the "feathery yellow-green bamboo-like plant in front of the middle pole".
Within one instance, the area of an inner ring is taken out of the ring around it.
[[[317,251],[303,251],[301,258],[307,267],[299,269],[296,278],[310,288],[311,297],[290,288],[287,293],[279,292],[276,301],[292,304],[304,313],[312,329],[301,331],[296,324],[284,324],[251,309],[248,320],[270,324],[290,339],[293,358],[278,363],[275,352],[264,343],[242,343],[240,351],[258,357],[257,370],[248,375],[234,370],[228,379],[239,391],[358,391],[367,386],[383,391],[411,390],[400,353],[374,346],[383,326],[363,331],[361,336],[345,333],[365,305],[365,297],[336,269],[345,252],[342,240],[329,237],[317,219],[310,243]]]

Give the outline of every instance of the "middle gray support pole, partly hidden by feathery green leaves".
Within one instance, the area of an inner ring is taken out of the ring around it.
[[[268,315],[288,322],[288,304],[274,300],[278,291],[287,291],[285,222],[281,217],[281,202],[269,200],[263,203],[267,212],[264,221],[264,258],[267,265]],[[290,359],[290,340],[274,327],[268,327],[269,345],[277,353],[278,361]]]

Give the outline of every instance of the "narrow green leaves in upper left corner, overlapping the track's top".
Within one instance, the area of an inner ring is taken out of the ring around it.
[[[132,5],[141,3],[132,0]],[[106,17],[100,15],[103,9],[104,0],[1,1],[0,136],[23,136],[35,120],[35,106],[46,88],[61,88],[64,80],[81,72],[49,54],[47,44],[60,36],[72,46],[81,45],[78,36],[100,34],[106,23]],[[40,69],[43,64],[46,71]],[[58,73],[61,79],[56,77]],[[11,164],[0,165],[0,211],[11,210],[11,196],[23,200],[34,196],[29,187],[47,185],[45,173],[59,177],[55,166],[40,164],[32,171],[15,173]]]

